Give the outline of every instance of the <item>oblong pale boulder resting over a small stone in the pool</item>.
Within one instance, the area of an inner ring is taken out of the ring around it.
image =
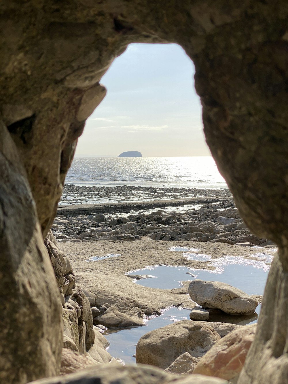
[[[252,314],[258,306],[258,302],[247,293],[220,281],[193,280],[188,293],[202,307],[228,314]]]

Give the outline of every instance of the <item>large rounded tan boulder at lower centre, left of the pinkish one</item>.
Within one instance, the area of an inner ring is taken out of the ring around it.
[[[184,352],[202,357],[220,339],[204,321],[178,321],[142,336],[136,346],[136,362],[166,369]]]

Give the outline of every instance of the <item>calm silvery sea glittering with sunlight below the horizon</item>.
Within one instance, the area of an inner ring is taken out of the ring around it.
[[[203,157],[76,157],[66,184],[228,188],[214,159]]]

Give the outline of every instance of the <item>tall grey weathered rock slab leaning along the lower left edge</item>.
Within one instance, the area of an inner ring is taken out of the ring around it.
[[[59,372],[61,304],[25,170],[0,123],[0,382]]]

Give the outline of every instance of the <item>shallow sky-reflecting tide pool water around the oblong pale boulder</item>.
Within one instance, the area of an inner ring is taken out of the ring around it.
[[[184,247],[180,251],[190,251]],[[178,250],[178,249],[177,249]],[[193,250],[194,252],[197,252]],[[189,255],[189,256],[188,256]],[[248,260],[237,257],[222,257],[219,259],[212,259],[208,255],[202,254],[183,254],[185,258],[193,257],[193,260],[210,261],[216,268],[215,270],[195,270],[184,266],[168,266],[168,265],[154,265],[148,266],[145,269],[137,270],[128,273],[128,275],[145,275],[145,278],[136,280],[136,284],[144,285],[150,288],[172,289],[179,288],[181,281],[195,280],[195,278],[208,280],[208,281],[222,281],[239,288],[249,295],[262,295],[268,275],[269,262],[271,261],[270,255],[253,255],[256,260]],[[195,257],[195,259],[194,259]],[[197,257],[197,258],[196,258]],[[147,278],[147,275],[152,275]],[[257,322],[258,314],[260,313],[261,305],[258,305],[256,312],[249,316],[233,316],[227,315],[221,311],[215,311],[210,314],[209,321],[220,321],[226,323],[246,325]],[[125,329],[107,329],[104,332],[106,338],[111,344],[108,348],[112,356],[118,357],[126,364],[135,364],[133,355],[136,351],[136,344],[138,340],[149,331],[156,328],[164,327],[171,324],[172,321],[180,321],[189,319],[190,310],[182,308],[168,308],[163,311],[161,316],[153,317],[147,320],[147,326],[137,328]]]

